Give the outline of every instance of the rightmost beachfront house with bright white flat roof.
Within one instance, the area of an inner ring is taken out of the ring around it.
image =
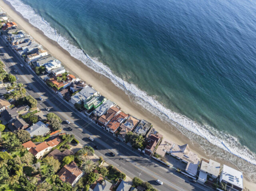
[[[227,165],[223,165],[222,171],[220,173],[220,183],[226,185],[227,190],[242,191],[243,173]]]

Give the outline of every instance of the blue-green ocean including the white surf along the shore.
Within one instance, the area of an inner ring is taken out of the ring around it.
[[[7,1],[73,57],[206,152],[209,141],[238,156],[208,153],[256,181],[253,1]]]

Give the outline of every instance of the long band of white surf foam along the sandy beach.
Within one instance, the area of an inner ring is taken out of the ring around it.
[[[50,24],[46,22],[40,15],[36,14],[36,12],[30,6],[24,4],[20,0],[7,1],[9,1],[24,18],[28,19],[30,24],[40,29],[50,39],[56,41],[74,58],[82,61],[85,65],[92,68],[97,73],[105,75],[111,79],[111,81],[120,89],[124,90],[127,94],[134,96],[135,100],[144,108],[158,115],[163,120],[172,123],[189,138],[193,139],[194,134],[199,135],[219,148],[222,148],[223,150],[226,150],[235,156],[256,165],[256,155],[245,146],[242,146],[237,138],[226,134],[225,132],[220,132],[210,126],[200,125],[184,115],[172,112],[171,110],[165,108],[153,97],[148,96],[146,92],[138,89],[136,85],[127,83],[120,77],[117,77],[108,67],[96,60],[93,60],[86,55],[84,51],[69,43],[68,39],[57,33],[56,30],[54,30],[54,28],[52,28]],[[198,138],[198,136],[196,138]],[[230,160],[230,158],[225,159]],[[233,163],[234,161],[236,160],[234,159]]]

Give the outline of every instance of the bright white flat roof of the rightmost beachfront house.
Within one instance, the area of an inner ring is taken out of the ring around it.
[[[243,173],[227,165],[223,165],[221,180],[243,189]]]

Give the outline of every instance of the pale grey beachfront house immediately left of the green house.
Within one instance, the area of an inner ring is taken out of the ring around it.
[[[86,86],[80,92],[73,95],[70,99],[70,102],[72,104],[75,104],[75,103],[81,104],[82,101],[86,103],[88,100],[90,100],[92,97],[96,95],[98,95],[98,92],[95,89],[93,89],[90,86]]]

